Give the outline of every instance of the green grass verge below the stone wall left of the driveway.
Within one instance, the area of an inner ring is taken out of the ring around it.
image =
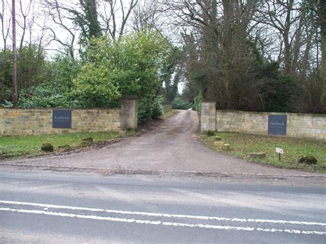
[[[133,132],[128,132],[131,135]],[[45,154],[40,151],[43,143],[50,143],[58,151],[58,146],[69,145],[70,148],[83,145],[83,139],[92,137],[94,143],[122,137],[116,132],[67,133],[60,135],[25,135],[19,137],[0,137],[0,159],[5,157],[33,156]]]

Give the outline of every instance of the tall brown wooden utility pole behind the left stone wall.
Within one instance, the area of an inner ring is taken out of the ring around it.
[[[12,104],[17,107],[16,6],[12,0]]]

